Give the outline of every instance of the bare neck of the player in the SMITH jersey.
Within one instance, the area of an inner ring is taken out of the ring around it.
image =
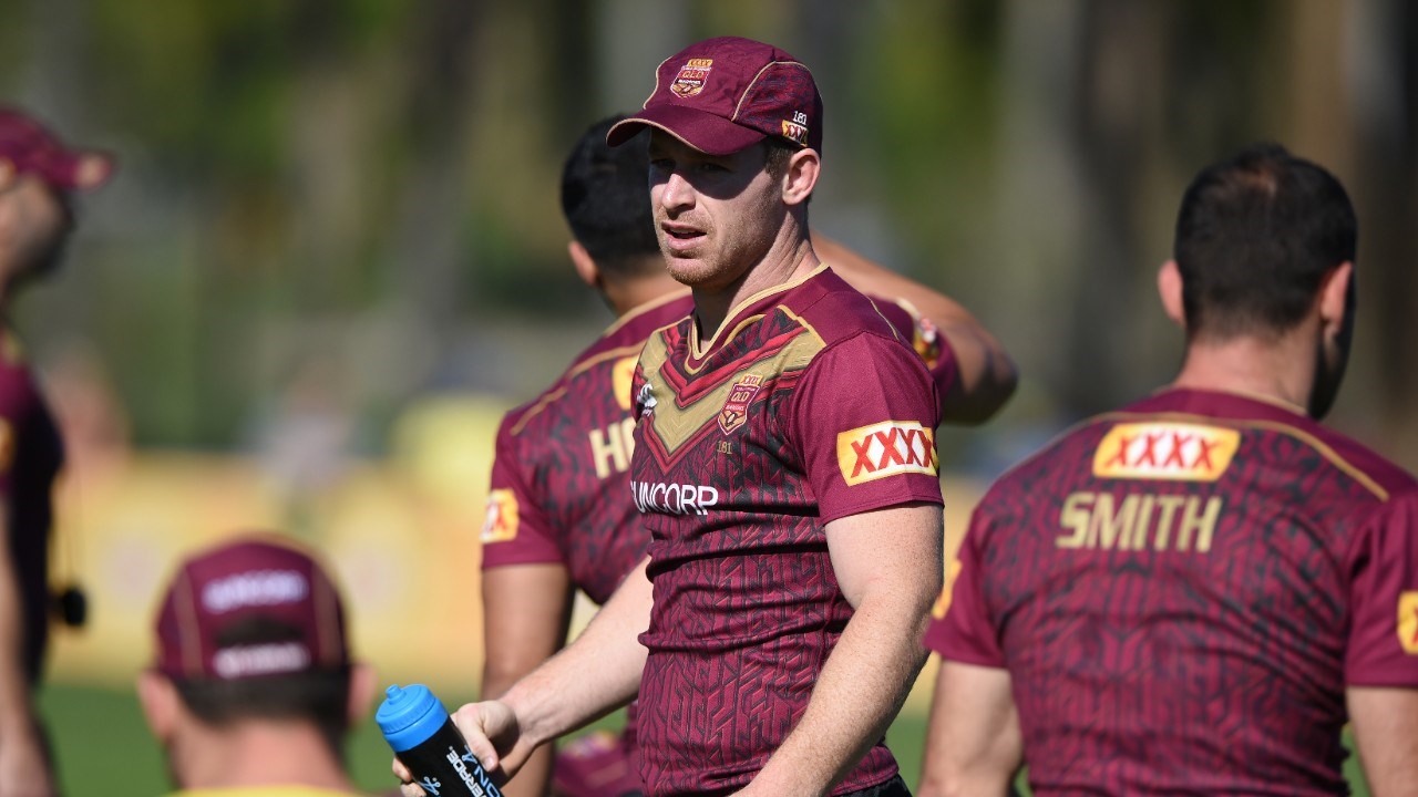
[[[1173,387],[1249,393],[1306,414],[1314,389],[1314,340],[1312,326],[1302,325],[1278,340],[1191,342]]]

